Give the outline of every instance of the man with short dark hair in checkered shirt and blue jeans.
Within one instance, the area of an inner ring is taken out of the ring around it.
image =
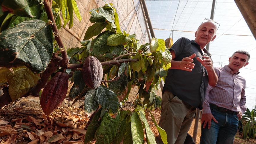
[[[239,120],[246,111],[246,81],[239,70],[248,65],[249,59],[247,51],[236,51],[228,65],[215,68],[218,83],[206,91],[200,144],[233,143]]]

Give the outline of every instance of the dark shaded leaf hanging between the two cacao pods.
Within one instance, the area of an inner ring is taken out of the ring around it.
[[[70,92],[68,94],[68,97],[71,99],[77,97],[82,91],[83,88],[85,87],[85,83],[82,79],[83,74],[80,70],[76,70],[74,72],[74,84],[70,89]]]

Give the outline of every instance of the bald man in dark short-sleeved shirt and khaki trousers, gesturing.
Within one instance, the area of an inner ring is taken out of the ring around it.
[[[202,109],[209,82],[215,86],[218,77],[211,54],[205,46],[216,38],[214,21],[203,22],[195,32],[195,40],[180,38],[170,48],[172,66],[163,87],[159,126],[166,131],[168,144],[183,144],[195,116]],[[161,136],[156,142],[163,143]]]

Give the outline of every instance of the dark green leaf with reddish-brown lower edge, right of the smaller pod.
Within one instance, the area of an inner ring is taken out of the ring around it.
[[[128,78],[125,74],[120,76],[120,79],[109,83],[109,89],[117,95],[119,102],[121,102],[128,92],[127,88]]]

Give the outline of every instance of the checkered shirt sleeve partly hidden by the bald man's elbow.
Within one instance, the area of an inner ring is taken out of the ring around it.
[[[214,68],[214,70],[215,70],[217,76],[219,77],[219,76],[220,76],[220,71],[217,70],[216,68]],[[204,101],[204,103],[203,103],[202,114],[211,113],[209,93],[210,93],[210,91],[211,91],[213,88],[214,88],[213,86],[210,86],[210,85],[208,84],[208,87],[207,87],[207,90],[206,90],[206,93],[205,93],[205,101]]]

